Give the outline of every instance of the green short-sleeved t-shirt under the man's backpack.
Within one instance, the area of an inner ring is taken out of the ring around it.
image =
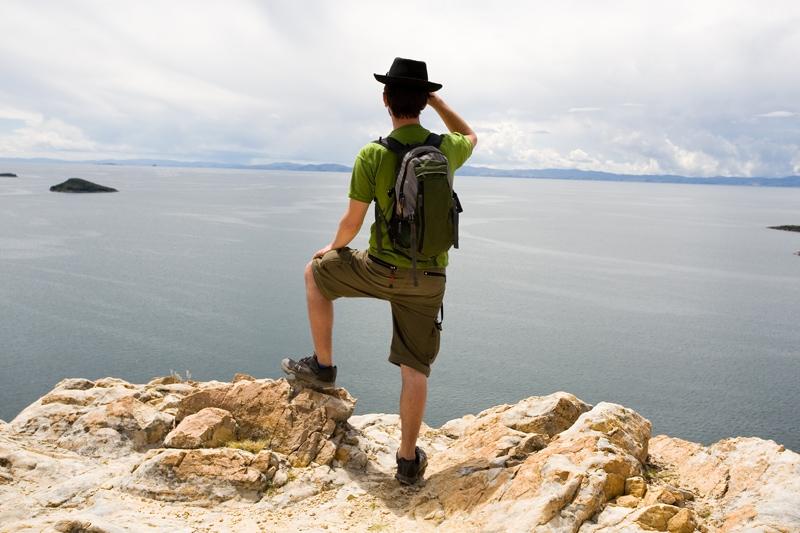
[[[419,124],[409,124],[397,128],[389,136],[403,144],[415,144],[423,142],[429,134],[430,131]],[[439,149],[450,162],[450,172],[454,173],[472,155],[472,142],[461,133],[446,133],[442,135],[442,144]],[[350,179],[350,194],[348,196],[353,200],[365,203],[376,200],[388,218],[391,207],[389,191],[394,188],[396,166],[397,156],[391,150],[377,143],[369,143],[364,146],[356,156],[356,161],[353,165],[353,176]],[[370,212],[368,212],[367,216],[369,215]],[[411,259],[394,251],[388,232],[385,227],[383,229],[383,251],[378,252],[375,223],[372,224],[369,253],[393,265],[410,268]],[[420,267],[447,266],[447,252],[440,254],[431,261],[417,261],[417,265]]]

